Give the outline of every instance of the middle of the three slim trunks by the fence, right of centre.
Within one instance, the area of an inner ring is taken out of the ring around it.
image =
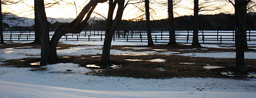
[[[169,43],[168,45],[177,45],[175,40],[173,1],[168,0],[168,22],[169,22]]]

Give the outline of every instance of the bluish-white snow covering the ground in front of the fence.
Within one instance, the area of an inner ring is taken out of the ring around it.
[[[12,41],[29,43],[32,41]],[[103,41],[64,41],[66,44],[94,45],[57,50],[58,55],[102,54]],[[10,42],[6,42],[10,43]],[[112,45],[147,45],[138,42],[113,41]],[[204,47],[225,45],[202,44]],[[128,47],[129,48],[129,47]],[[255,46],[256,48],[256,46]],[[255,49],[253,48],[253,49]],[[137,48],[143,49],[143,48]],[[112,55],[173,55],[177,52],[134,52],[111,50]],[[185,53],[179,55],[192,55]],[[0,49],[1,61],[9,59],[40,58],[40,49]],[[235,52],[197,53],[195,57],[235,58]],[[245,58],[256,59],[256,52],[245,52]],[[171,78],[137,79],[84,75],[91,69],[75,63],[47,65],[46,71],[31,68],[0,67],[0,98],[256,98],[256,79],[225,78]],[[63,74],[67,69],[70,74]]]

